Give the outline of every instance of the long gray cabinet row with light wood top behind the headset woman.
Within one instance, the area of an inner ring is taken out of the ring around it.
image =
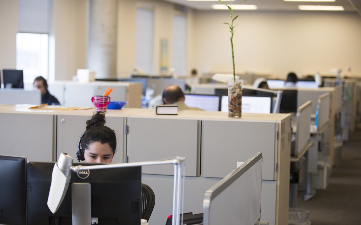
[[[56,161],[58,153],[75,157],[78,140],[93,109],[31,110],[0,105],[0,154],[22,155],[31,161]],[[117,134],[113,162],[135,162],[185,156],[184,211],[201,213],[207,189],[262,152],[261,220],[271,225],[288,221],[291,114],[178,111],[156,115],[153,109],[108,110],[106,124]],[[262,141],[260,141],[262,140]],[[157,200],[150,224],[164,224],[171,214],[173,167],[142,168],[142,182]]]

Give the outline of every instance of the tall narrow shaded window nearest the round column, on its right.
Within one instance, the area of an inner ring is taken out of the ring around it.
[[[135,66],[145,74],[153,73],[153,10],[136,10]]]

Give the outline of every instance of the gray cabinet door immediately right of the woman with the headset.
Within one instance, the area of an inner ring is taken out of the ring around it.
[[[128,162],[187,158],[186,176],[199,176],[200,122],[161,118],[127,118]],[[186,131],[186,132],[184,132]],[[143,174],[173,175],[172,166],[144,166]]]

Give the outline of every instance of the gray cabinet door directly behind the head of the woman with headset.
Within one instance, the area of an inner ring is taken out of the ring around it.
[[[91,118],[89,116],[75,116],[75,115],[57,115],[57,152],[56,160],[60,153],[68,153],[77,162],[75,153],[78,150],[79,138],[85,131],[86,121]],[[117,135],[117,149],[112,163],[122,163],[124,153],[124,117],[106,117],[106,126],[109,126],[116,132]]]

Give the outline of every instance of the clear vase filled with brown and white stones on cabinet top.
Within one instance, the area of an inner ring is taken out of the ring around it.
[[[242,116],[242,85],[243,80],[227,80],[228,83],[228,116]]]

